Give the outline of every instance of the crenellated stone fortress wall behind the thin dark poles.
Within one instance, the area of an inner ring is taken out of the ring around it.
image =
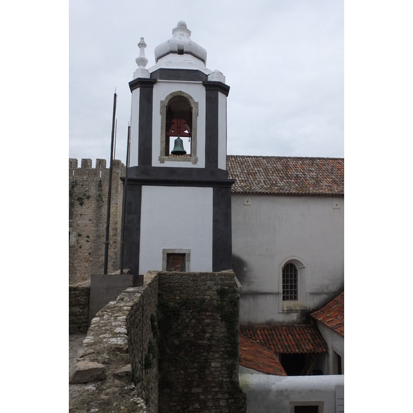
[[[108,272],[119,269],[125,165],[113,161],[109,225]],[[69,284],[83,282],[91,274],[103,273],[109,168],[106,160],[69,160]]]

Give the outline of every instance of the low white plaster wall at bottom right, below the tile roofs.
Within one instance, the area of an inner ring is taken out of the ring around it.
[[[324,401],[324,413],[335,413],[336,385],[344,385],[344,376],[240,374],[246,413],[290,413],[290,401]]]

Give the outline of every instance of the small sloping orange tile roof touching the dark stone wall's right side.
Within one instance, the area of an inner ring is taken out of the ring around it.
[[[240,366],[264,374],[287,375],[273,351],[243,334],[240,334]]]

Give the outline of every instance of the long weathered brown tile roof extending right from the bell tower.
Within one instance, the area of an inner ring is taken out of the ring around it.
[[[226,156],[233,193],[344,196],[343,158]]]

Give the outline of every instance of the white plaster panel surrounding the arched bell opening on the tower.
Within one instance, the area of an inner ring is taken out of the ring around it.
[[[198,102],[197,156],[198,163],[166,161],[159,162],[160,156],[160,102],[176,91],[185,92]],[[202,82],[157,81],[153,85],[153,118],[152,118],[152,166],[153,167],[205,167],[205,87]]]

